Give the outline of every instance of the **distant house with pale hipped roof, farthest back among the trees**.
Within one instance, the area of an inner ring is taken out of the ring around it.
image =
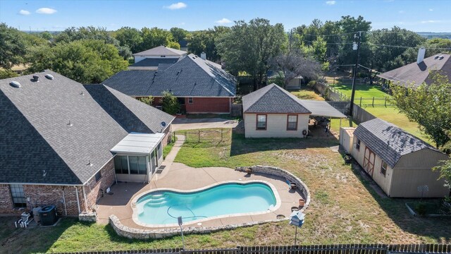
[[[135,63],[128,66],[129,70],[156,71],[160,65],[172,65],[187,56],[187,52],[169,47],[159,46],[153,49],[133,54]]]

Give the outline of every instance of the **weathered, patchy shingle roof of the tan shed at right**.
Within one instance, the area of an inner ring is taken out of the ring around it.
[[[403,155],[411,152],[422,149],[438,151],[423,140],[382,119],[360,123],[354,135],[392,168]]]

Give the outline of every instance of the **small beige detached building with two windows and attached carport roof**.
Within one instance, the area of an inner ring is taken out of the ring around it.
[[[299,99],[276,84],[242,97],[246,138],[304,138],[310,116],[346,118],[328,102]]]

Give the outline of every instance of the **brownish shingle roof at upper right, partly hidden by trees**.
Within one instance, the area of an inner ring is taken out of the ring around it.
[[[380,78],[390,80],[393,83],[403,85],[405,87],[414,83],[415,86],[431,84],[432,80],[428,78],[430,71],[441,71],[443,75],[451,77],[451,55],[438,54],[443,56],[443,59],[435,59],[435,56],[430,56],[424,59],[421,63],[409,63],[406,66],[395,68],[392,71],[387,71],[378,75]]]

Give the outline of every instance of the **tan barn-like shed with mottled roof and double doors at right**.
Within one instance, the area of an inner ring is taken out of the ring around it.
[[[344,134],[340,139],[352,139],[354,159],[389,197],[443,198],[449,195],[445,180],[438,180],[440,172],[432,171],[440,160],[449,157],[423,140],[382,119],[366,121],[359,124],[354,133],[348,129]],[[428,191],[421,192],[424,186]]]

